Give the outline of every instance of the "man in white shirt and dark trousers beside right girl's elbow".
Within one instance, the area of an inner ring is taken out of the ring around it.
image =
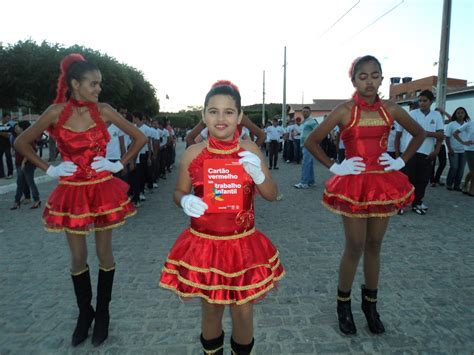
[[[418,96],[419,109],[410,111],[410,116],[426,131],[426,138],[416,151],[415,155],[406,163],[406,173],[415,187],[415,199],[412,211],[426,214],[428,207],[423,203],[426,186],[428,185],[433,161],[441,149],[444,138],[443,117],[438,111],[430,109],[434,95],[430,90],[424,90]],[[402,128],[402,133],[411,136]]]

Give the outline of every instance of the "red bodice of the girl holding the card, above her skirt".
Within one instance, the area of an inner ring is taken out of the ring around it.
[[[239,146],[236,136],[232,141],[220,141],[209,137],[208,146],[189,164],[188,172],[191,176],[194,194],[203,196],[204,172],[203,164],[206,159],[239,159],[238,153],[243,149]],[[200,218],[191,218],[191,228],[210,235],[227,236],[244,233],[254,227],[254,183],[252,178],[245,174],[243,181],[244,199],[243,209],[238,213],[205,213]]]

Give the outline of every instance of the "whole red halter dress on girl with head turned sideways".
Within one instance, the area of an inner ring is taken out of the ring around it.
[[[75,132],[65,124],[74,107],[88,107],[94,124],[86,131]],[[43,212],[45,229],[86,235],[92,231],[122,225],[136,213],[127,192],[129,186],[109,171],[97,173],[91,168],[94,157],[105,157],[109,133],[100,117],[97,104],[70,99],[50,134],[56,140],[64,161],[72,161],[77,170],[61,177]]]

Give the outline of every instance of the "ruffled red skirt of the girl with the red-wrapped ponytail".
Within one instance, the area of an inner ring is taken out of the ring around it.
[[[60,181],[43,212],[45,229],[85,235],[121,226],[136,214],[128,189],[112,176],[91,182]]]

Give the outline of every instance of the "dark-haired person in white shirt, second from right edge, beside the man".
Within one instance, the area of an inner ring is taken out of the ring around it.
[[[464,154],[465,146],[455,139],[453,134],[459,130],[459,128],[466,121],[469,121],[470,118],[467,115],[466,109],[464,107],[458,107],[452,116],[441,108],[438,108],[438,111],[444,114],[450,120],[445,129],[446,146],[448,148],[449,158],[449,171],[448,177],[446,178],[446,189],[450,191],[462,191],[462,175],[464,173],[464,167],[466,166],[466,158]],[[464,132],[461,133],[460,138],[461,140],[466,139],[466,134]]]

